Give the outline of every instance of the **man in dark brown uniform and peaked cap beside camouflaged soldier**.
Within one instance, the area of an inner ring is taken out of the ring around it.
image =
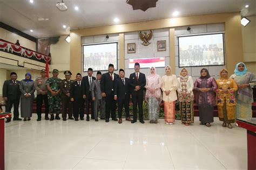
[[[62,113],[63,121],[66,121],[66,114],[69,115],[69,119],[72,118],[72,103],[70,101],[70,87],[73,82],[70,80],[72,73],[67,70],[64,72],[65,79],[60,83],[60,89],[62,90],[62,109],[60,112]]]

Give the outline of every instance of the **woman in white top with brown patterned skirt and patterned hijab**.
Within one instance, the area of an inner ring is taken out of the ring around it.
[[[178,100],[181,112],[181,122],[188,126],[194,123],[194,82],[191,76],[188,76],[186,68],[181,69],[178,81]]]

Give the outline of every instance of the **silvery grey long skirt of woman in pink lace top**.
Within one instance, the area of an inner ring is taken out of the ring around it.
[[[156,121],[159,118],[159,101],[156,98],[150,97],[147,100],[147,112],[150,120]]]

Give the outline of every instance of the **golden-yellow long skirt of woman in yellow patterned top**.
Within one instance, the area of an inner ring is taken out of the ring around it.
[[[224,123],[235,122],[235,106],[227,106],[224,103],[223,106],[218,106],[219,120]]]

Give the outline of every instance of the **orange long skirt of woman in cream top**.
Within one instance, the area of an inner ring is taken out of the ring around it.
[[[173,102],[164,101],[164,120],[167,123],[175,122],[175,101]]]

